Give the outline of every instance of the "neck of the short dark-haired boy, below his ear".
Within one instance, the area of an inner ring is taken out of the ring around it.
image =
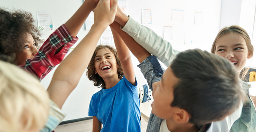
[[[177,123],[174,120],[166,120],[168,130],[171,132],[198,132],[197,125],[191,123]]]

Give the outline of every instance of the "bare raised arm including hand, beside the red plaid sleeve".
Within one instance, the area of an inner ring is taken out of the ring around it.
[[[117,0],[100,0],[94,10],[94,24],[89,33],[56,69],[48,91],[50,99],[62,107],[68,95],[77,86],[92,58],[100,36],[115,18]]]

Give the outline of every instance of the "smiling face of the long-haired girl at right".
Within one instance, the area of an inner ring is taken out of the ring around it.
[[[237,33],[228,33],[216,42],[215,54],[230,60],[240,72],[247,58],[251,58],[245,39]]]

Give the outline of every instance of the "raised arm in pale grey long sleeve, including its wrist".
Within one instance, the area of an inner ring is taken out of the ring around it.
[[[115,17],[122,30],[128,33],[135,41],[137,41],[150,54],[155,55],[166,66],[171,64],[172,58],[179,51],[172,49],[171,43],[163,40],[153,30],[139,24],[131,17],[126,16],[119,8]]]

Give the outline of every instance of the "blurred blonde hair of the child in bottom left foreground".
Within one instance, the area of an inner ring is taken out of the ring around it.
[[[0,132],[43,128],[49,115],[49,95],[40,82],[0,61],[0,84]]]

